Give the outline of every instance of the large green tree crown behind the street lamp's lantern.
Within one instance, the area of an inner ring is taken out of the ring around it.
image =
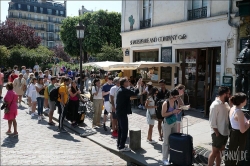
[[[121,47],[121,14],[99,10],[85,13],[80,17],[68,17],[63,21],[60,36],[64,43],[65,51],[72,56],[80,55],[80,44],[76,37],[76,25],[79,20],[85,25],[83,50],[96,54],[106,43],[112,47]]]

